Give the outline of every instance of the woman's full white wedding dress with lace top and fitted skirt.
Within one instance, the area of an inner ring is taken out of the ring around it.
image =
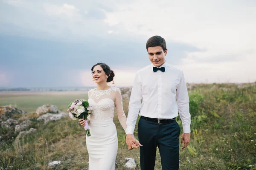
[[[89,154],[89,170],[114,170],[117,154],[117,133],[113,122],[114,109],[119,122],[126,130],[126,116],[122,107],[122,96],[119,88],[108,90],[92,89],[88,92],[88,102],[92,106],[89,128],[91,136],[86,137]]]

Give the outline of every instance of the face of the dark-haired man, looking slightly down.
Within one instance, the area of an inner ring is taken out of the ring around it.
[[[148,47],[148,58],[155,67],[160,67],[165,62],[167,49],[163,51],[161,46]]]

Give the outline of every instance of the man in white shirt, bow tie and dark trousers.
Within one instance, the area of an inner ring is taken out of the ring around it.
[[[183,71],[166,63],[166,42],[160,36],[146,43],[151,65],[137,71],[131,91],[127,119],[126,143],[128,149],[135,143],[134,128],[138,113],[140,166],[142,170],[154,170],[157,147],[163,170],[179,169],[180,127],[175,117],[180,114],[183,125],[181,149],[190,140],[189,96]],[[142,101],[141,101],[142,100]],[[136,147],[137,147],[136,146]]]

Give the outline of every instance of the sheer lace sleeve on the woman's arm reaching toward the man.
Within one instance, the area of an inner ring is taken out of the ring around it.
[[[117,88],[117,91],[118,92],[116,92],[116,96],[115,96],[116,112],[117,112],[119,122],[126,132],[127,125],[126,125],[126,116],[125,116],[123,106],[122,106],[122,95],[121,95],[121,91],[119,90],[119,88]]]

